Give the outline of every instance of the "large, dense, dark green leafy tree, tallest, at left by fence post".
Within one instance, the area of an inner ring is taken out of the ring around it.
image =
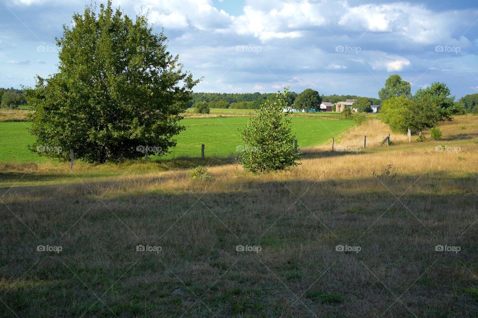
[[[73,15],[57,38],[59,72],[38,77],[29,104],[36,109],[30,132],[48,145],[42,155],[67,159],[73,149],[89,162],[135,159],[138,146],[164,154],[184,127],[180,113],[198,83],[155,34],[144,15],[133,20],[111,1]]]

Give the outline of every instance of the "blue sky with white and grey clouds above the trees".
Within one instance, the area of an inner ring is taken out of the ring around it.
[[[100,2],[100,1],[97,1]],[[0,87],[32,86],[57,71],[55,37],[90,1],[0,0]],[[196,92],[377,97],[399,74],[412,92],[445,82],[478,93],[476,0],[113,0],[147,11]]]

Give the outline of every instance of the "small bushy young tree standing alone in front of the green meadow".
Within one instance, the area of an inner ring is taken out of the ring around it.
[[[298,165],[300,153],[294,149],[290,119],[282,110],[287,105],[288,90],[265,101],[241,132],[243,152],[239,162],[252,173],[266,173]]]

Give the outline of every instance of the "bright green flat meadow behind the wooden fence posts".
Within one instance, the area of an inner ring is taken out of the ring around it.
[[[165,159],[200,157],[201,145],[206,145],[206,156],[227,157],[237,154],[241,145],[238,129],[248,117],[184,119],[186,130],[177,136],[178,144]],[[27,132],[28,122],[0,122],[0,162],[44,162],[26,149],[34,141]],[[300,147],[321,145],[352,127],[353,121],[292,117],[293,131]],[[152,159],[154,159],[152,157]]]

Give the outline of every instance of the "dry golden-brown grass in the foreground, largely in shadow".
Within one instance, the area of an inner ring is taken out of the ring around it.
[[[441,129],[369,120],[262,176],[3,164],[0,317],[477,317],[478,117]]]

